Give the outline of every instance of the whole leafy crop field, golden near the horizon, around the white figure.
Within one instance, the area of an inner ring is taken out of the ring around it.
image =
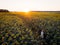
[[[60,45],[60,12],[0,12],[0,44]]]

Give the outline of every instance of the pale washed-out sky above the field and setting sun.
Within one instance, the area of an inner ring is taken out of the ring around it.
[[[60,0],[0,0],[0,9],[60,11]]]

